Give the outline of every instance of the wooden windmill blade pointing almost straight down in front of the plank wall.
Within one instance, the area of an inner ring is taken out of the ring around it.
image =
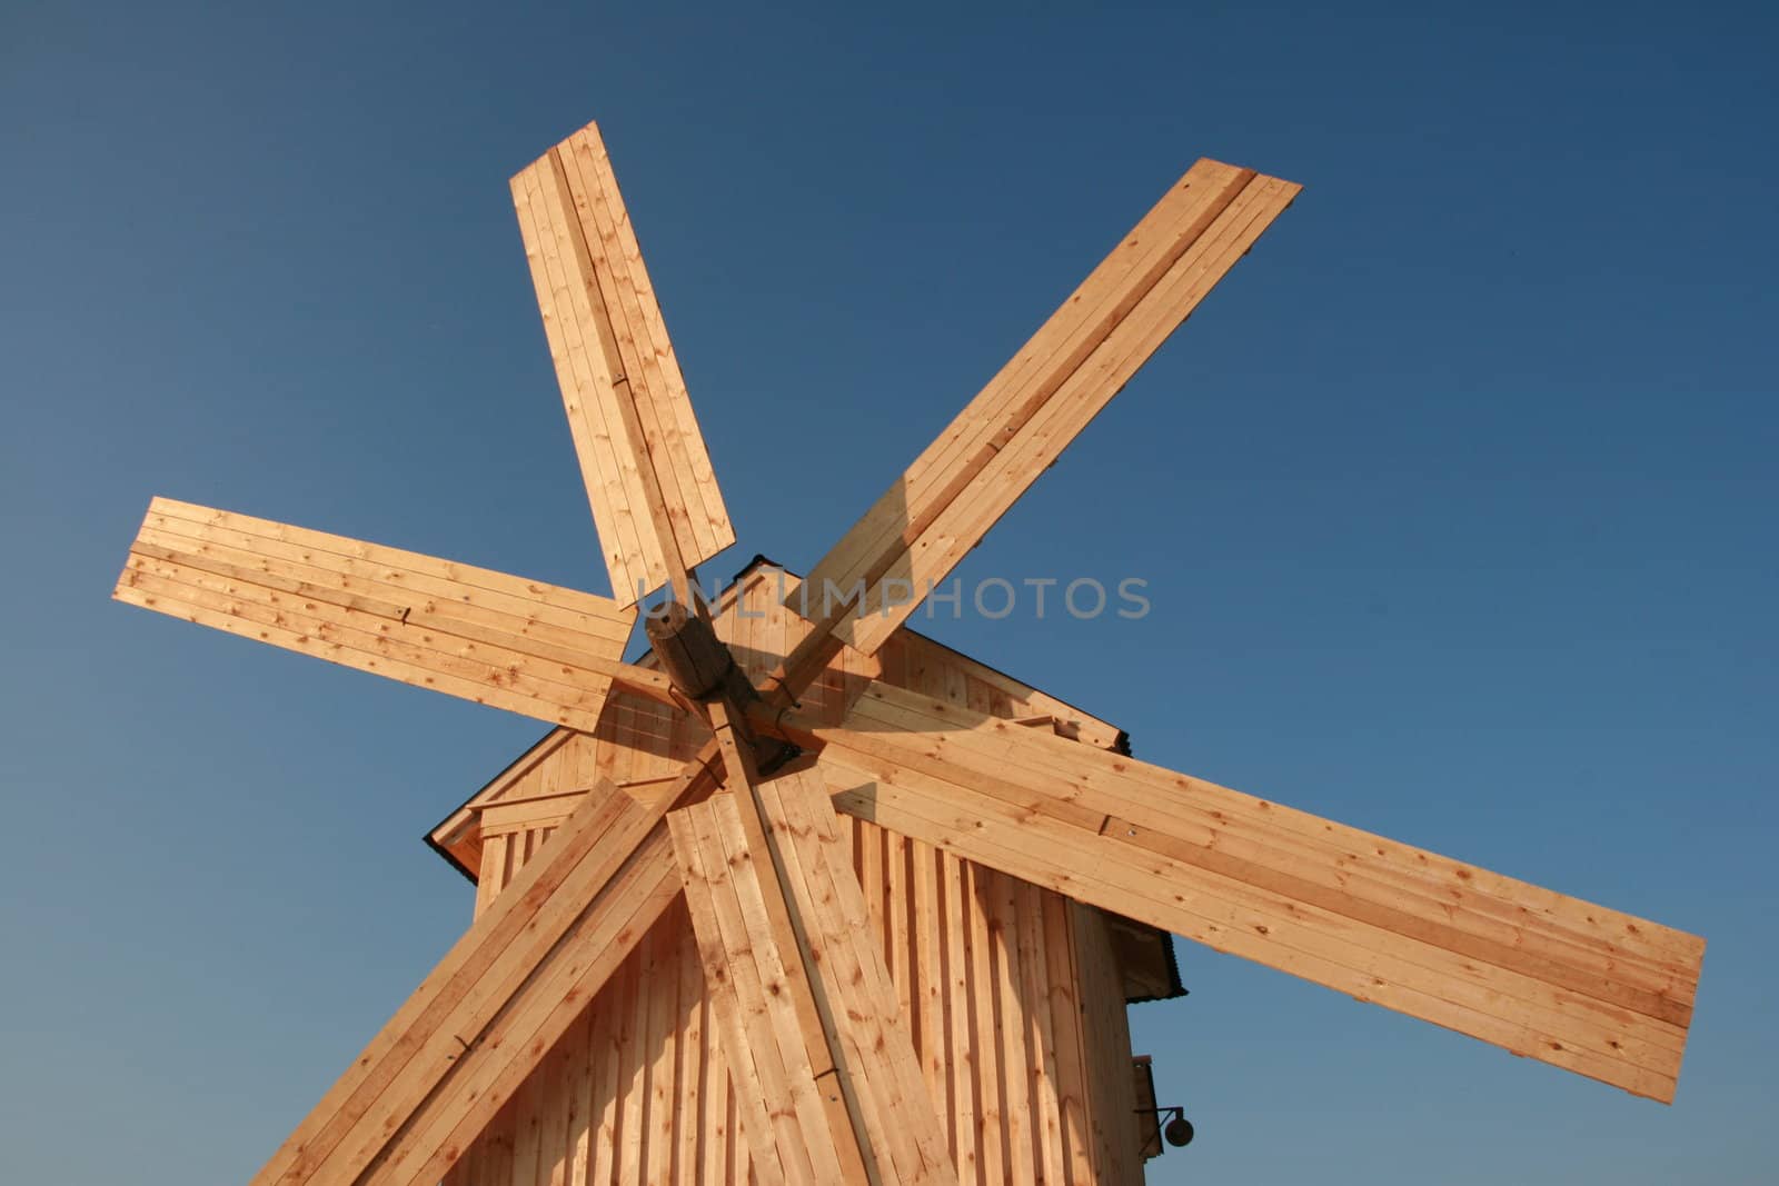
[[[754,1069],[735,1092],[756,1170],[808,1186],[957,1182],[822,779],[735,775],[667,823],[713,1024],[729,1063]],[[795,939],[772,925],[779,894]]]

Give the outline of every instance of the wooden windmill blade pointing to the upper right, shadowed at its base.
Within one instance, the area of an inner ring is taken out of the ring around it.
[[[1197,162],[786,599],[809,647],[875,653],[1300,188]]]

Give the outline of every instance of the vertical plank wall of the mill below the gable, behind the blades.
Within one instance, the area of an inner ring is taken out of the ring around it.
[[[850,823],[866,909],[959,1179],[1140,1184],[1130,1031],[1103,916]],[[543,832],[484,848],[486,900],[537,853]],[[697,948],[676,905],[447,1186],[749,1182],[735,1124]]]

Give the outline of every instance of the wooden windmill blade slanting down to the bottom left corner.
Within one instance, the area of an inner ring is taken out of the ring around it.
[[[370,1040],[251,1186],[432,1186],[680,896],[676,805],[712,741],[648,804],[608,782],[562,821]]]

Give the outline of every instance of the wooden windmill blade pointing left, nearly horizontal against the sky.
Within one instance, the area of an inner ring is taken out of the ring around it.
[[[635,610],[398,548],[157,498],[112,596],[477,704],[591,733]]]

